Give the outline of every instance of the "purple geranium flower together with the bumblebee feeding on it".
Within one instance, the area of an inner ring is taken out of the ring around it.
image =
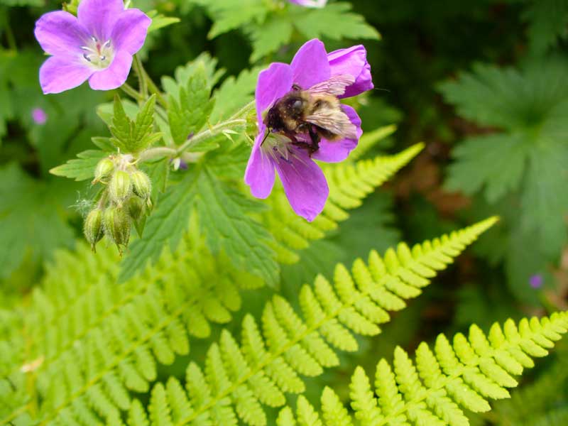
[[[244,178],[252,195],[270,195],[276,170],[294,212],[315,219],[329,188],[314,160],[345,160],[363,133],[356,111],[339,99],[372,88],[362,45],[327,53],[320,40],[310,40],[290,65],[275,62],[261,72],[255,93],[258,135]]]

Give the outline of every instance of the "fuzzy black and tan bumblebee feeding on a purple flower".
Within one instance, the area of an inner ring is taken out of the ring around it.
[[[339,141],[356,139],[356,126],[342,109],[338,96],[354,83],[351,75],[336,75],[309,89],[294,84],[292,90],[268,110],[264,124],[268,134],[280,133],[310,155],[320,148],[322,138]]]

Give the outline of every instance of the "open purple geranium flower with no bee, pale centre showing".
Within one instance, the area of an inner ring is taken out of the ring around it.
[[[40,68],[43,93],[60,93],[86,80],[95,90],[126,82],[132,55],[142,48],[151,19],[122,0],[83,0],[77,18],[65,11],[45,13],[35,38],[52,55]]]

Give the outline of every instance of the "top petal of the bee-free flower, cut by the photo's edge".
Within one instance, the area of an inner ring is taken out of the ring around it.
[[[122,0],[82,0],[77,9],[79,22],[103,43],[109,40],[114,23],[124,12]]]

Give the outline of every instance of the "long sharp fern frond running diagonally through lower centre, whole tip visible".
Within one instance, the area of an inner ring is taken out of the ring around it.
[[[388,310],[405,307],[437,271],[488,229],[495,218],[417,244],[400,244],[368,263],[356,260],[351,273],[339,264],[333,283],[323,276],[300,290],[299,315],[279,295],[267,303],[261,322],[246,315],[241,344],[224,330],[212,344],[204,368],[187,366],[185,388],[175,378],[151,392],[149,420],[154,425],[266,425],[263,405],[278,407],[285,393],[302,393],[301,376],[318,376],[337,366],[337,351],[356,351],[355,334],[374,336],[388,322]],[[180,407],[183,408],[180,409]],[[131,405],[133,425],[146,425],[140,405]],[[135,422],[136,419],[136,422]]]

